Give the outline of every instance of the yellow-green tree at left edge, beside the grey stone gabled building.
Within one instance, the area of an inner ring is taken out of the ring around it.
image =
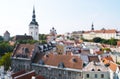
[[[0,66],[4,66],[5,70],[8,70],[11,66],[11,53],[5,53],[5,55],[2,56],[0,59]]]

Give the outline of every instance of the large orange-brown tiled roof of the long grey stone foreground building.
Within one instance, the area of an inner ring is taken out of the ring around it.
[[[74,69],[83,68],[83,61],[77,56],[49,54],[47,56],[44,56],[42,59],[45,64],[51,66],[58,66],[59,63],[62,62],[64,63],[64,66],[66,68],[74,68]]]

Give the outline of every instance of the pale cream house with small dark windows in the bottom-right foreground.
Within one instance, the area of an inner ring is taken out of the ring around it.
[[[83,79],[111,79],[109,68],[100,62],[90,62],[83,68]]]

